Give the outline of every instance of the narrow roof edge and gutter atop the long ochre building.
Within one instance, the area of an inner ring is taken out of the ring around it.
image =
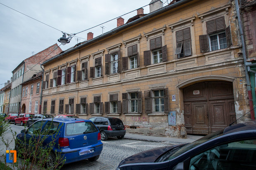
[[[91,40],[87,40],[86,42],[84,42],[84,44],[81,44],[81,45],[79,45],[79,46],[77,46],[75,48],[72,47],[72,49],[67,49],[67,50],[65,50],[64,53],[59,54],[59,55],[57,55],[55,57],[52,57],[52,58],[50,58],[47,61],[44,61],[41,65],[45,65],[45,64],[49,63],[50,61],[53,61],[53,60],[55,60],[57,58],[60,58],[60,57],[66,55],[66,54],[68,54],[68,53],[70,53],[72,51],[81,49],[81,48],[85,47],[86,45],[89,45],[89,44],[94,43],[94,42],[96,42],[98,40],[101,40],[102,38],[114,35],[114,34],[120,32],[121,30],[124,30],[126,28],[129,28],[130,26],[133,26],[133,25],[137,24],[137,23],[140,23],[140,22],[145,21],[147,19],[150,19],[150,18],[152,18],[154,16],[157,16],[158,14],[162,14],[163,12],[167,12],[168,10],[174,9],[175,7],[183,5],[183,4],[185,4],[185,3],[189,2],[189,1],[191,1],[191,0],[179,0],[179,2],[176,2],[176,3],[173,3],[173,4],[167,5],[165,7],[162,7],[162,8],[160,8],[160,9],[154,11],[154,12],[151,12],[149,14],[145,14],[145,16],[141,16],[139,19],[133,20],[133,21],[131,21],[129,23],[125,23],[124,25],[119,26],[117,28],[114,28],[114,29],[108,31],[107,33],[99,35],[99,36],[97,36],[97,37],[95,37],[95,38],[93,38]]]

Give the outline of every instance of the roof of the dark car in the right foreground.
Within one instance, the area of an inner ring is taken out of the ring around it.
[[[256,121],[247,121],[244,123],[238,123],[238,124],[228,126],[223,131],[223,134],[226,135],[226,134],[245,131],[245,130],[256,130]]]

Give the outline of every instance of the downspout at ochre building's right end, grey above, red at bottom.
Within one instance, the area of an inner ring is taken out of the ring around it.
[[[246,67],[246,59],[247,58],[246,58],[246,50],[245,50],[245,44],[244,44],[244,32],[243,32],[243,28],[242,28],[242,20],[241,20],[241,14],[239,11],[238,0],[235,0],[235,5],[236,5],[236,11],[237,11],[238,26],[239,26],[239,31],[240,31],[241,41],[242,41],[242,52],[243,52],[243,58],[244,58],[245,78],[246,78],[247,91],[248,91],[248,97],[249,97],[249,105],[250,105],[250,110],[251,110],[251,120],[254,120],[254,105],[253,105],[253,101],[252,101],[251,84],[250,84],[249,74],[248,74],[248,70]]]

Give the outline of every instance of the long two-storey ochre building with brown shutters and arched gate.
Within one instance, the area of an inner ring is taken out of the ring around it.
[[[234,1],[156,2],[45,61],[43,110],[114,116],[127,132],[174,137],[214,132],[248,112]]]

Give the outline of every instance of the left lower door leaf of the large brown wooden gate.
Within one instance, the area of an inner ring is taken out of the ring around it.
[[[209,134],[207,102],[192,102],[193,134]]]

